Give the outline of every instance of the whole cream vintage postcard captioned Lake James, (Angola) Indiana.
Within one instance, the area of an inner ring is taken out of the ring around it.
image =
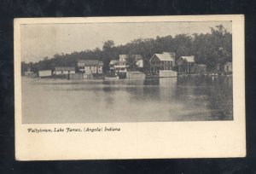
[[[17,160],[246,156],[243,15],[14,22]]]

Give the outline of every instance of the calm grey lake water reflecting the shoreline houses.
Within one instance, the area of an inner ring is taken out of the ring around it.
[[[22,123],[232,120],[232,77],[22,78]]]

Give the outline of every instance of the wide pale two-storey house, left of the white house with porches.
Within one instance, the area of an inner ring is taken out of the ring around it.
[[[78,67],[81,73],[102,73],[103,63],[98,60],[80,60]]]

